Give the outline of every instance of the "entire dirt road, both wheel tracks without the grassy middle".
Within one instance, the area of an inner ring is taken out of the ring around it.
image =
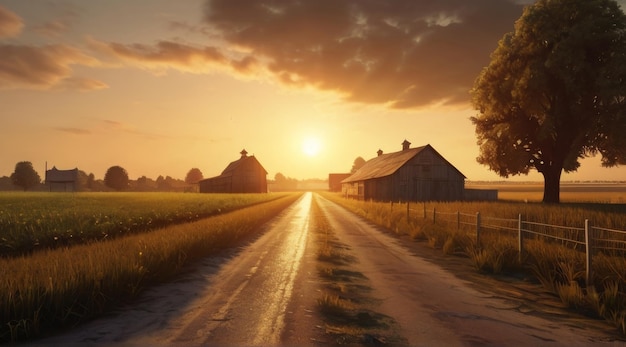
[[[263,227],[255,240],[198,264],[177,282],[147,290],[141,302],[38,341],[67,345],[330,345],[316,314],[320,281],[307,193]],[[412,346],[622,345],[598,329],[518,310],[416,256],[391,237],[316,196],[335,236],[358,259]]]

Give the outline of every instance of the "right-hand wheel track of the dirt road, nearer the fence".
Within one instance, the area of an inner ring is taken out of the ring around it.
[[[355,265],[383,300],[411,346],[622,345],[604,332],[516,310],[516,303],[478,291],[415,256],[397,238],[336,204],[318,199],[335,231],[359,259]]]

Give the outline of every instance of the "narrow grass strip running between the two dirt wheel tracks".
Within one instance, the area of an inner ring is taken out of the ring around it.
[[[318,246],[318,275],[323,283],[317,306],[324,317],[326,334],[334,344],[406,344],[394,334],[393,319],[376,312],[380,301],[372,297],[369,280],[353,270],[358,259],[333,236],[332,227],[315,198],[311,220]]]

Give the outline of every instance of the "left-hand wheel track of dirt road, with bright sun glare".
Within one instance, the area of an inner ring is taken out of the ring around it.
[[[256,240],[147,290],[140,303],[37,344],[310,344],[322,334],[316,285],[309,284],[316,277],[316,252],[307,249],[311,196],[265,225]]]

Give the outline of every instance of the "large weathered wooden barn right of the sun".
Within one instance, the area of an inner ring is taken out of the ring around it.
[[[376,201],[463,200],[465,176],[431,145],[410,148],[370,159],[341,181],[346,197]]]

